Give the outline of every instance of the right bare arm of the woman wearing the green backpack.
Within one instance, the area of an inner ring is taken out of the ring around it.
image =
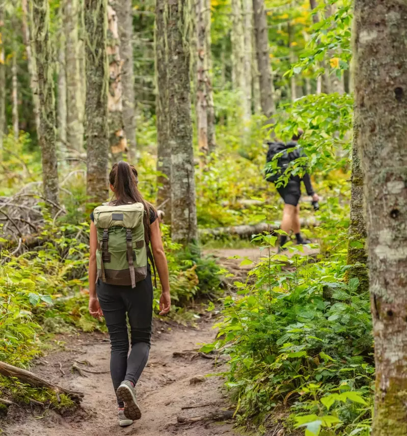
[[[164,315],[170,311],[170,278],[168,275],[168,264],[164,247],[162,246],[161,230],[159,220],[156,219],[150,226],[151,229],[151,251],[154,257],[155,267],[157,268],[158,277],[161,283],[162,294],[160,298],[160,315]]]

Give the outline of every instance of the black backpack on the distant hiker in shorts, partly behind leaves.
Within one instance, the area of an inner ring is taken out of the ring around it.
[[[301,152],[298,148],[288,152],[287,150],[297,147],[295,142],[288,142],[284,144],[283,142],[269,142],[267,158],[266,158],[266,168],[265,168],[265,179],[267,182],[277,182],[277,180],[285,173],[290,162],[301,157]],[[279,157],[276,157],[276,155]],[[277,167],[274,162],[277,161]],[[270,163],[273,162],[273,163]]]

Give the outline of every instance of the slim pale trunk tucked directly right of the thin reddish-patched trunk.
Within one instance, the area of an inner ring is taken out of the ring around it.
[[[212,63],[212,38],[210,35],[211,28],[211,9],[210,0],[206,0],[205,8],[205,29],[206,29],[206,60],[207,60],[207,80],[206,95],[208,96],[208,149],[209,152],[214,151],[216,147],[216,131],[215,131],[215,105],[213,102],[213,90],[212,90],[212,77],[213,77],[213,63]]]

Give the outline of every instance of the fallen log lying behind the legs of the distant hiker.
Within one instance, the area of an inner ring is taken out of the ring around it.
[[[316,227],[319,222],[314,218],[300,219],[301,227]],[[276,221],[274,224],[258,223],[253,225],[231,226],[231,227],[217,227],[215,229],[200,229],[199,234],[205,236],[222,236],[222,235],[236,235],[241,238],[251,238],[252,235],[260,233],[272,232],[280,228],[280,222]]]

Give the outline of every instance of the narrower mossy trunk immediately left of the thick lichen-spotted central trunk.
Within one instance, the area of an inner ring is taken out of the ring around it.
[[[168,102],[168,57],[166,23],[164,20],[166,0],[155,4],[155,68],[156,68],[156,121],[157,121],[157,207],[164,211],[164,220],[171,223],[171,145],[169,140]],[[168,11],[167,11],[168,13]]]

